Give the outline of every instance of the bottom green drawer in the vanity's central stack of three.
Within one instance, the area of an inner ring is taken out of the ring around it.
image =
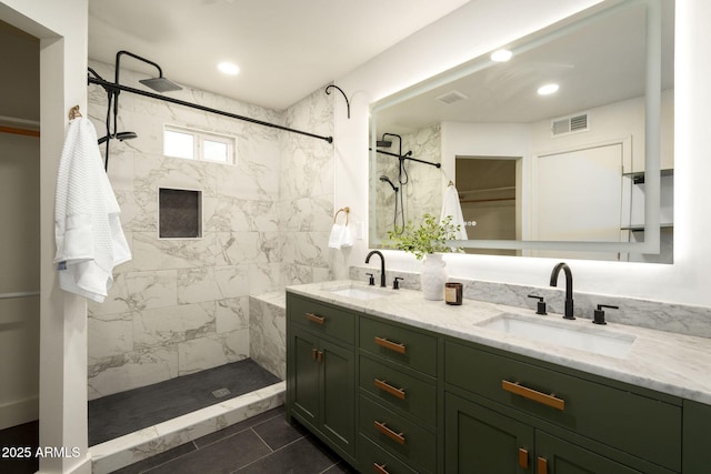
[[[360,397],[360,432],[418,472],[434,472],[437,437],[397,413]]]

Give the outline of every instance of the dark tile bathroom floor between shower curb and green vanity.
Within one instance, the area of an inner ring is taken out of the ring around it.
[[[357,471],[284,409],[269,412],[116,471],[114,474],[339,474]]]

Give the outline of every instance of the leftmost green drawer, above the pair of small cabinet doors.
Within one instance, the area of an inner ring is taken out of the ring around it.
[[[353,344],[356,315],[326,303],[287,293],[289,321],[317,333]]]

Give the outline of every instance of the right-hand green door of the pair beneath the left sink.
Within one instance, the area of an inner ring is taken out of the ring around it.
[[[323,432],[347,453],[354,454],[356,366],[351,350],[321,341],[321,424]]]

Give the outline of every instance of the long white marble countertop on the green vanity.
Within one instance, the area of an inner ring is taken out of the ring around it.
[[[363,300],[332,292],[343,288],[382,292],[383,295]],[[588,319],[568,321],[560,314],[537,315],[528,309],[474,300],[464,300],[462,305],[449,305],[444,301],[425,300],[419,291],[380,289],[350,280],[301,284],[289,286],[287,291],[440,334],[711,404],[711,339],[615,323],[601,326],[591,324]],[[479,325],[502,314],[550,321],[551,324],[577,327],[582,332],[611,336],[631,335],[634,336],[634,342],[623,357],[613,357],[569,349],[558,343],[514,336]]]

